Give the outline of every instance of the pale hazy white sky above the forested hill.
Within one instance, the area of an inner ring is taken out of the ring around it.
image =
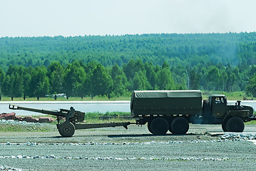
[[[256,31],[255,0],[0,0],[0,37]]]

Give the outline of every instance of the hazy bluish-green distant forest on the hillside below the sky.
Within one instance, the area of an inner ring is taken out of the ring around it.
[[[143,34],[123,36],[4,37],[0,38],[0,68],[8,66],[46,66],[53,61],[62,65],[74,59],[103,66],[123,66],[140,58],[143,63],[170,67],[222,63],[237,66],[256,64],[256,32]]]

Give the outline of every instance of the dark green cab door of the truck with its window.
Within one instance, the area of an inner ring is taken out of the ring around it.
[[[213,97],[212,99],[212,115],[213,117],[222,117],[225,115],[227,99],[225,96]]]

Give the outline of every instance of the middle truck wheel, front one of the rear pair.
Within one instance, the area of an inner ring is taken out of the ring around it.
[[[188,132],[188,120],[182,117],[174,118],[170,124],[170,130],[175,135],[183,135]]]

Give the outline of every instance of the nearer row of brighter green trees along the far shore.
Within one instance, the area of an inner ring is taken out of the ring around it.
[[[12,98],[45,97],[66,93],[68,97],[130,95],[132,90],[246,90],[255,94],[256,66],[224,66],[198,63],[196,66],[170,67],[168,62],[130,59],[122,67],[105,67],[91,61],[67,65],[54,61],[46,66],[12,66],[0,69],[0,94]]]

